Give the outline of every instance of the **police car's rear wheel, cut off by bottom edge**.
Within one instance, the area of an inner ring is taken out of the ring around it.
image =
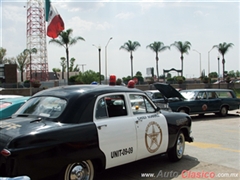
[[[94,166],[90,160],[69,164],[64,173],[64,180],[93,180]]]

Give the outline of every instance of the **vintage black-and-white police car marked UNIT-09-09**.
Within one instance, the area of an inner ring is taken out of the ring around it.
[[[160,110],[141,90],[73,85],[40,91],[0,123],[0,176],[92,180],[104,169],[192,142],[191,117]]]

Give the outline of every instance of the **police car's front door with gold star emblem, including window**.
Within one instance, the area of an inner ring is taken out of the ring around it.
[[[130,109],[137,131],[137,159],[167,151],[168,127],[166,118],[143,94],[130,93]],[[128,101],[129,102],[129,101]]]

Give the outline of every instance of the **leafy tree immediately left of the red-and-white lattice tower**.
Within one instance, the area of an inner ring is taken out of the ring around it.
[[[17,69],[21,73],[21,82],[23,82],[23,73],[26,70],[27,64],[29,64],[28,53],[26,51],[23,51],[21,54],[19,54],[16,58],[15,63],[17,64]]]

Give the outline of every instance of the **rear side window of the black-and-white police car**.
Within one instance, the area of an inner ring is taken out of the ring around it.
[[[107,117],[126,116],[127,108],[123,95],[105,96],[98,100],[96,119]]]

